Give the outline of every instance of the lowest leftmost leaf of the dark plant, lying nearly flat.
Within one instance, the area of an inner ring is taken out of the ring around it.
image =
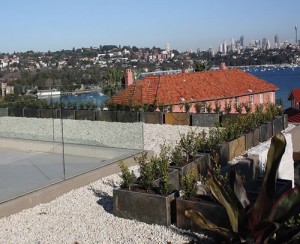
[[[214,223],[207,220],[201,213],[194,210],[186,210],[184,215],[190,218],[195,224],[197,224],[200,228],[210,230],[213,232],[217,232],[218,234],[229,238],[231,236],[231,232],[226,229],[215,225]]]

